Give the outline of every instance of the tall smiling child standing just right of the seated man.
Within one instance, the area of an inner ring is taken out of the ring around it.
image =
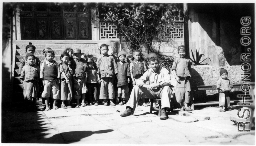
[[[190,59],[186,58],[185,46],[178,47],[178,53],[180,57],[176,58],[173,62],[171,70],[177,81],[177,88],[175,89],[175,95],[177,102],[180,103],[180,111],[192,111],[189,108],[191,101],[191,89],[189,79],[191,77],[191,64]],[[185,88],[184,88],[185,87]],[[185,108],[184,108],[184,96],[185,96]],[[192,99],[193,100],[193,99]]]

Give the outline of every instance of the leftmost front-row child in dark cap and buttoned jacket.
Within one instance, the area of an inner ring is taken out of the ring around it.
[[[23,96],[25,100],[33,99],[33,111],[36,111],[36,97],[39,93],[40,68],[35,65],[35,56],[32,53],[26,55],[27,64],[21,70],[21,80],[23,81]]]

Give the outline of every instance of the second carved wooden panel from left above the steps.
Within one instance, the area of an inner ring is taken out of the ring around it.
[[[37,40],[46,40],[49,39],[48,31],[48,18],[46,19],[36,19],[36,39]]]

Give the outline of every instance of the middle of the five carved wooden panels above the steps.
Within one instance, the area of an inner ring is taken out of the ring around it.
[[[51,38],[52,39],[63,39],[63,29],[62,29],[62,20],[61,19],[51,19],[50,20],[50,29],[51,29]]]

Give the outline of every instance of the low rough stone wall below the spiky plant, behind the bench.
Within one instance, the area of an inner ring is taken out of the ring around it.
[[[196,65],[192,66],[192,73],[190,78],[191,86],[202,86],[202,85],[216,85],[219,80],[219,71],[222,67],[214,67],[210,65]],[[241,70],[241,66],[234,65],[224,67],[228,71],[228,79],[232,84],[241,84],[244,76],[244,72]],[[175,80],[173,74],[171,74],[172,84],[175,86],[177,81]],[[175,90],[175,89],[174,89]],[[236,94],[240,93],[241,89],[232,89],[231,99],[236,99]],[[219,94],[217,90],[206,90],[206,91],[196,91],[192,92],[194,95],[195,102],[203,101],[218,101]],[[207,97],[206,97],[207,96]]]

